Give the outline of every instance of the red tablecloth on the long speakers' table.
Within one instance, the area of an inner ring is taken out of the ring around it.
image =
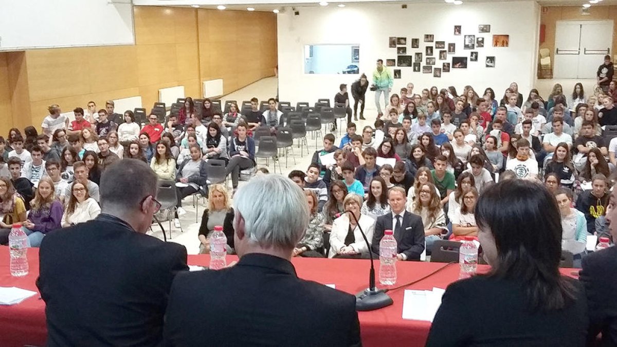
[[[235,257],[229,256],[228,261]],[[35,285],[38,276],[38,249],[28,250],[30,274],[22,278],[11,277],[9,271],[9,251],[0,246],[0,286],[18,286],[38,291]],[[189,256],[191,265],[207,265],[206,255]],[[368,259],[315,259],[294,258],[300,278],[314,280],[323,284],[334,284],[336,288],[347,293],[363,290],[368,285]],[[399,262],[397,265],[397,285],[412,282],[430,274],[442,263]],[[486,266],[482,267],[486,270]],[[569,274],[571,269],[563,269]],[[434,286],[445,288],[458,279],[458,265],[453,264],[441,272],[422,280],[407,289],[430,290]],[[360,329],[364,346],[424,346],[431,324],[419,320],[402,319],[404,289],[391,291],[394,300],[392,306],[376,311],[358,312]],[[27,343],[43,345],[46,340],[45,303],[39,296],[33,296],[14,306],[0,306],[0,346],[23,346]]]

